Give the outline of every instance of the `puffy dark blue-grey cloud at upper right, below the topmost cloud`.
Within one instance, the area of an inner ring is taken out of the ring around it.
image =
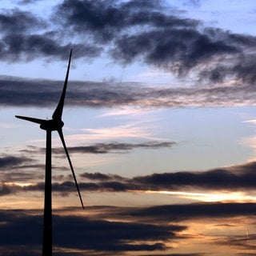
[[[250,35],[214,28],[201,31],[168,27],[122,35],[116,39],[111,54],[126,64],[140,60],[180,77],[195,72],[200,83],[224,82],[226,78],[254,83],[254,54],[246,54],[246,50],[254,52],[255,45],[256,39]]]

